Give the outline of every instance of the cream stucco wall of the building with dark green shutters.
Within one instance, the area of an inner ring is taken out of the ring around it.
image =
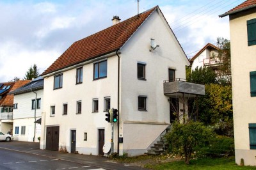
[[[256,18],[253,13],[230,16],[230,45],[232,68],[232,98],[236,163],[244,158],[245,165],[256,166],[256,150],[250,150],[248,123],[256,123],[256,97],[250,97],[250,72],[256,71],[256,45],[248,46],[246,20]]]

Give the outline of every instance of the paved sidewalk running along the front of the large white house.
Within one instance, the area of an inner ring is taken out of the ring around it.
[[[100,165],[108,169],[143,169],[141,167],[125,166],[124,164],[118,164],[116,162],[111,162],[109,158],[94,156],[94,155],[80,155],[74,153],[61,153],[59,151],[49,151],[40,150],[39,143],[31,142],[0,142],[0,149],[15,150],[24,153],[31,153],[36,155],[41,155],[44,157],[58,158],[62,160],[67,160],[70,162],[76,162],[79,164],[90,164],[92,166]]]

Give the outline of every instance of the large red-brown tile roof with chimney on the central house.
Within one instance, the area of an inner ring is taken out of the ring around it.
[[[120,49],[158,6],[74,42],[42,75],[77,65]]]

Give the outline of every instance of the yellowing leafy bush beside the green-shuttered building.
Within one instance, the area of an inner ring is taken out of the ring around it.
[[[206,125],[232,120],[232,89],[221,84],[205,84],[205,96],[199,98],[198,118]]]

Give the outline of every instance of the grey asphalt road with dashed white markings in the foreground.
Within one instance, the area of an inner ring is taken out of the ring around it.
[[[19,151],[0,149],[0,169],[19,169],[19,170],[59,170],[59,169],[104,169],[99,166],[79,164],[61,160],[58,158],[47,158],[30,153],[21,153]]]

